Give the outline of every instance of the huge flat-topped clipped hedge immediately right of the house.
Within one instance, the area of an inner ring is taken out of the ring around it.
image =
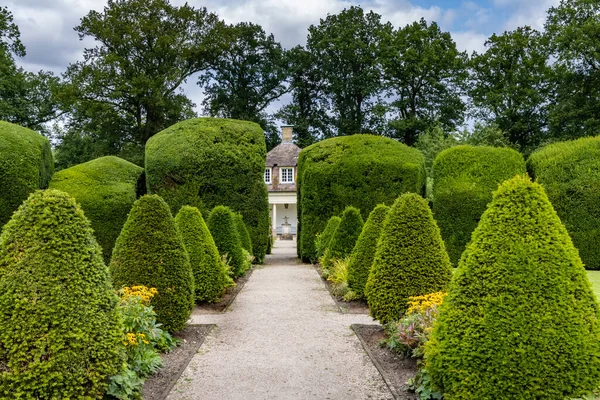
[[[425,159],[414,148],[374,135],[323,140],[298,158],[298,255],[316,258],[315,235],[346,206],[363,219],[377,204],[392,204],[401,193],[425,193]]]

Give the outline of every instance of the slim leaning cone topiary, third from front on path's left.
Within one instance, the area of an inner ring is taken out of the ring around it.
[[[175,223],[190,257],[196,301],[218,301],[224,290],[234,283],[202,214],[196,207],[183,206]]]

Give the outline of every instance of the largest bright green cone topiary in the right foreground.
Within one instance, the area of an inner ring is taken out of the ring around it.
[[[600,382],[599,310],[539,184],[503,183],[473,232],[426,346],[445,399],[580,398]]]

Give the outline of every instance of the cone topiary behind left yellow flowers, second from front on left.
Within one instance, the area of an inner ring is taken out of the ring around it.
[[[110,261],[116,288],[144,285],[158,290],[151,305],[169,332],[185,327],[194,306],[194,277],[175,220],[157,195],[135,203]]]

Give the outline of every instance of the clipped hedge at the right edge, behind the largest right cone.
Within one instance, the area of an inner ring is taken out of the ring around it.
[[[527,168],[542,184],[587,269],[600,269],[600,136],[548,145]]]

